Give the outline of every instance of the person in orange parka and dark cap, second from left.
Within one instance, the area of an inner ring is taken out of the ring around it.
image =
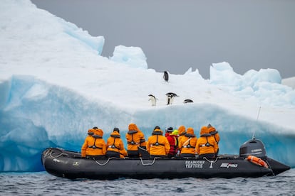
[[[118,128],[114,128],[113,133],[110,134],[107,141],[107,147],[105,156],[108,158],[120,158],[120,152],[123,153],[125,151],[124,144],[120,136],[120,130]]]

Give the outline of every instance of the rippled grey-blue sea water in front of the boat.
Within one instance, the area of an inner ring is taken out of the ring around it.
[[[295,168],[262,178],[68,180],[0,173],[0,195],[295,195]]]

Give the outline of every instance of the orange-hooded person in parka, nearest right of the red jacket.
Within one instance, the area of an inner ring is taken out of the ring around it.
[[[194,129],[189,127],[187,128],[187,133],[180,138],[180,143],[178,146],[178,148],[180,148],[180,156],[195,157],[196,144],[197,137],[195,136]]]

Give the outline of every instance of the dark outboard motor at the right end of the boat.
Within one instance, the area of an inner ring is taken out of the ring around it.
[[[266,158],[265,146],[259,139],[252,138],[239,147],[239,156],[247,158],[248,156]]]

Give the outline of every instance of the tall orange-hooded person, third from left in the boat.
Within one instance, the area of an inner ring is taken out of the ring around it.
[[[136,124],[129,124],[128,130],[129,131],[125,135],[127,140],[128,157],[139,157],[138,146],[140,146],[140,142],[143,143],[145,136],[143,135],[143,132],[139,131]]]

